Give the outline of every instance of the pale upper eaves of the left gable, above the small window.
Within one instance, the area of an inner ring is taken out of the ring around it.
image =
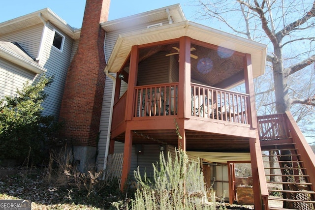
[[[72,28],[49,8],[41,9],[36,12],[32,12],[30,14],[0,23],[0,35],[34,26],[43,23],[43,21],[52,23],[54,26],[58,27],[59,30],[62,30],[63,33],[67,34],[74,40],[80,38],[81,29]]]

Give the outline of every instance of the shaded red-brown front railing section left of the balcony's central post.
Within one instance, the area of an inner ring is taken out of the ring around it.
[[[133,117],[174,116],[178,111],[178,83],[137,86]]]

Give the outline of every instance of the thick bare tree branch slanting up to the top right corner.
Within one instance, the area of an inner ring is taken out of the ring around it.
[[[282,38],[289,34],[290,31],[295,30],[298,26],[304,24],[306,21],[308,21],[310,18],[315,17],[315,0],[313,2],[313,7],[309,12],[307,12],[302,18],[294,21],[293,23],[290,23],[286,27],[284,27],[283,30],[280,30],[276,36],[278,40],[282,40]]]

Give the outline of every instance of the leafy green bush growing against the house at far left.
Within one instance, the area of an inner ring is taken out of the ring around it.
[[[41,103],[47,97],[44,88],[53,82],[42,76],[33,84],[26,83],[15,96],[0,100],[0,160],[39,164],[43,161],[48,136],[59,127],[53,116],[43,116]]]

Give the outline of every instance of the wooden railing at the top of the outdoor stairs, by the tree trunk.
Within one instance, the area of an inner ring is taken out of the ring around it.
[[[258,116],[259,139],[276,140],[290,137],[284,114]]]

